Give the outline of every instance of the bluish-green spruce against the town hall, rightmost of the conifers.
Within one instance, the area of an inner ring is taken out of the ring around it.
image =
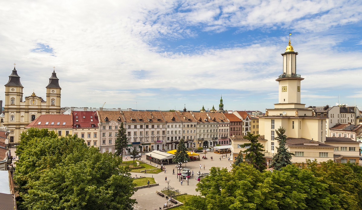
[[[286,129],[283,127],[279,127],[278,130],[275,130],[277,133],[277,137],[275,138],[278,140],[279,147],[277,147],[277,154],[273,157],[273,162],[270,164],[270,167],[274,167],[274,170],[281,170],[282,167],[292,164],[291,159],[293,153],[289,152],[285,147],[285,142],[287,140],[287,136],[284,135]]]

